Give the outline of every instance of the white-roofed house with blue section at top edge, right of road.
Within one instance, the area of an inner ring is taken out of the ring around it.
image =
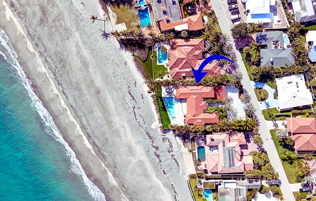
[[[247,0],[247,23],[280,24],[276,0]]]

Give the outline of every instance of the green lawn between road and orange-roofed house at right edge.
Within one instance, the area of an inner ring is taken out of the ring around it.
[[[274,130],[270,130],[273,142],[275,143],[276,146],[276,151],[278,156],[280,157],[281,154],[283,154],[283,152],[287,149],[285,149],[284,147],[282,147],[279,142],[278,142],[278,137],[276,136],[276,129]],[[294,152],[291,152],[292,154],[295,154]],[[301,171],[299,170],[297,161],[294,161],[292,164],[289,164],[286,161],[282,161],[280,159],[282,165],[283,165],[283,169],[285,171],[285,174],[287,176],[287,179],[289,181],[289,183],[294,184],[294,183],[298,183],[296,181],[296,176],[298,175],[298,173],[300,173]],[[304,182],[304,179],[302,180],[302,182]]]

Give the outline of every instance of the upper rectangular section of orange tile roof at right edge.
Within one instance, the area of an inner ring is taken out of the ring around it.
[[[287,118],[287,132],[298,133],[316,133],[315,118]]]

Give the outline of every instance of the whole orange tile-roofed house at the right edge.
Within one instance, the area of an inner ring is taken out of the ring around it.
[[[292,135],[297,154],[316,152],[315,118],[287,118],[287,132]]]

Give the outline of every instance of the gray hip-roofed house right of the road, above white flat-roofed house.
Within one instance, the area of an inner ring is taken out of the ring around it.
[[[292,48],[272,49],[272,41],[279,40],[280,46],[284,46],[283,32],[261,32],[256,33],[256,40],[261,45],[267,45],[267,49],[260,50],[261,66],[292,66],[294,65],[294,54]],[[271,62],[271,58],[273,62]]]

